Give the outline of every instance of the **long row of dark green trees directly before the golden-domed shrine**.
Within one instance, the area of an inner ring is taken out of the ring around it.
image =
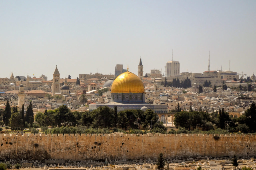
[[[84,129],[85,133],[93,129],[122,129],[128,130],[151,130],[152,132],[166,131],[162,124],[158,123],[158,116],[153,110],[124,110],[117,112],[117,107],[111,109],[107,106],[99,107],[91,112],[71,112],[66,105],[61,105],[55,110],[45,110],[44,113],[37,113],[35,121],[39,127],[62,127],[73,129],[78,132],[77,127]],[[152,123],[152,124],[151,124]],[[151,126],[152,125],[152,126]],[[66,128],[66,129],[67,129]],[[86,130],[87,129],[87,130]],[[60,131],[61,129],[55,129]],[[92,131],[93,131],[92,130]],[[48,133],[53,133],[48,130]]]

